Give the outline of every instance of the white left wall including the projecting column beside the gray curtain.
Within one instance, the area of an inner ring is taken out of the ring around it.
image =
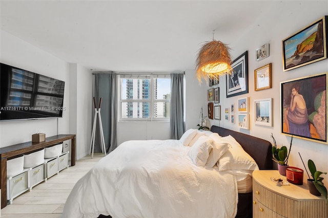
[[[76,158],[89,153],[91,140],[92,73],[67,63],[1,31],[1,62],[65,81],[63,118],[0,122],[0,147],[31,141],[34,133],[46,137],[76,134]]]

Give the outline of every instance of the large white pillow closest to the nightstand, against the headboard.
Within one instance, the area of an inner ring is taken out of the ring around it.
[[[217,162],[220,171],[229,169],[259,169],[254,159],[244,151],[232,136],[221,137],[220,140],[229,144],[229,149]]]

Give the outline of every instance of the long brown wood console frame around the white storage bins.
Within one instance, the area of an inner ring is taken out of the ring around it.
[[[19,155],[28,154],[40,148],[60,144],[71,140],[71,166],[75,165],[75,135],[56,135],[47,137],[44,142],[24,142],[0,148],[0,188],[1,188],[1,208],[7,206],[7,160]]]

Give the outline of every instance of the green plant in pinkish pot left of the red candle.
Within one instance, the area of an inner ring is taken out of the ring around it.
[[[292,148],[292,142],[293,142],[293,136],[291,139],[291,144],[289,146],[289,150],[287,149],[286,146],[281,146],[280,148],[277,148],[277,143],[275,138],[273,137],[271,133],[271,137],[273,139],[274,146],[272,146],[272,157],[273,161],[278,163],[278,170],[280,175],[285,176],[286,175],[286,168],[288,167],[288,158],[289,154],[291,152]]]

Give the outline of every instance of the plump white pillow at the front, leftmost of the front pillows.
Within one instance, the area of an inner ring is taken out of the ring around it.
[[[207,159],[209,158],[210,150],[212,150],[213,139],[207,136],[200,136],[199,139],[190,148],[188,155],[196,166],[205,166]]]

